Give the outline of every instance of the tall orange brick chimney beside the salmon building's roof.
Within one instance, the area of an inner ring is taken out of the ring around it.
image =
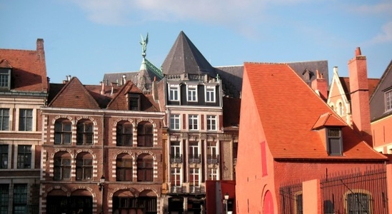
[[[348,73],[350,77],[353,128],[361,133],[365,141],[373,147],[366,56],[361,55],[359,47],[356,48],[354,58],[348,61]]]

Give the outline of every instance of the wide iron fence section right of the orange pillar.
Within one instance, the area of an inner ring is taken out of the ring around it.
[[[320,184],[324,214],[388,214],[385,165],[327,173]]]

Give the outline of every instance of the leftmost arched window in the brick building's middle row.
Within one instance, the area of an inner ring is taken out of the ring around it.
[[[59,152],[54,155],[54,180],[71,179],[71,155],[66,152]]]

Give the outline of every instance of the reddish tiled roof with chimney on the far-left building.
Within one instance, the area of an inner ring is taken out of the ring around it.
[[[0,66],[11,66],[11,91],[48,90],[44,40],[37,39],[36,51],[0,49]]]

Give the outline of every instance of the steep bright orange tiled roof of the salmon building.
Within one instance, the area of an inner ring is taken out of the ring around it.
[[[343,156],[328,156],[322,141],[325,136],[312,130],[313,126],[323,115],[333,115],[333,120],[346,123],[288,65],[245,63],[244,66],[247,76],[244,84],[251,87],[250,93],[273,158],[386,159],[362,141],[349,126],[342,128]]]

